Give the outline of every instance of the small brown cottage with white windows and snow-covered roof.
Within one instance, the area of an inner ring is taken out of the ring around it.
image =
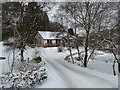
[[[38,31],[35,36],[34,44],[40,47],[56,47],[62,44],[61,37],[58,37],[59,32]]]

